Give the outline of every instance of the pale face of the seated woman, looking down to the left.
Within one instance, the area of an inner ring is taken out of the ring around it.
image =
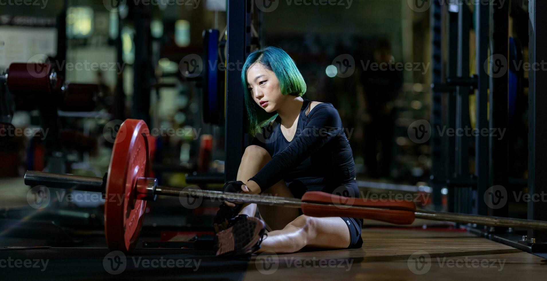
[[[247,88],[254,102],[268,113],[276,111],[286,98],[281,94],[275,73],[260,62],[255,62],[248,68]]]

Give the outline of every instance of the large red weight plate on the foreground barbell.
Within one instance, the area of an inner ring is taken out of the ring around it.
[[[146,201],[136,198],[138,177],[147,177],[148,127],[127,119],[114,141],[106,185],[104,232],[110,250],[131,251],[141,232]]]

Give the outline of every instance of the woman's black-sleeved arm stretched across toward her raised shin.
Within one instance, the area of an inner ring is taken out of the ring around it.
[[[309,122],[302,132],[249,179],[249,188],[255,189],[256,184],[260,192],[264,192],[335,136],[344,134],[340,115],[330,104],[318,104],[309,113],[308,118]]]

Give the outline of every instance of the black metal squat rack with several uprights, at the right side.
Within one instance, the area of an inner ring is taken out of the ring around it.
[[[476,35],[476,74],[469,73],[469,31],[473,22],[472,13],[465,4],[446,3],[435,0],[430,9],[432,31],[432,175],[431,185],[434,193],[440,194],[441,187],[446,187],[449,195],[449,211],[465,214],[507,217],[508,204],[499,208],[491,197],[483,196],[491,186],[501,185],[511,197],[512,180],[508,177],[509,144],[507,137],[498,139],[495,136],[478,134],[475,141],[475,170],[469,173],[470,136],[440,136],[437,126],[447,128],[470,127],[469,95],[476,95],[476,125],[479,129],[508,128],[508,91],[509,71],[501,76],[492,73],[492,64],[488,55],[500,54],[509,64],[509,11],[510,3],[495,0],[488,5],[480,2],[474,7]],[[537,14],[547,11],[545,1],[530,0],[529,3],[529,63],[545,61],[547,53],[542,48],[546,41],[546,20]],[[444,45],[447,45],[445,53]],[[490,52],[488,51],[490,50]],[[492,57],[491,57],[492,58]],[[507,69],[509,66],[507,66]],[[541,194],[547,189],[547,175],[541,173],[547,167],[547,148],[542,145],[547,131],[547,112],[540,110],[547,105],[547,98],[542,90],[547,89],[547,73],[541,69],[529,71],[528,91],[528,193]],[[526,83],[524,83],[526,85]],[[523,86],[525,87],[525,86]],[[475,92],[476,90],[476,92]],[[488,90],[490,95],[488,95]],[[444,110],[443,110],[444,108]],[[444,116],[443,116],[444,112]],[[487,112],[489,112],[487,115]],[[511,134],[511,132],[508,132]],[[438,196],[435,196],[438,197]],[[490,207],[489,207],[490,206]],[[547,220],[547,202],[541,200],[527,203],[529,220]],[[478,228],[477,228],[478,229]],[[492,228],[482,232],[487,237],[501,242],[516,245],[515,239],[501,238],[507,228]],[[547,241],[547,232],[528,231],[528,237],[536,241]],[[525,243],[526,244],[526,243]],[[527,243],[522,248],[522,241],[517,248],[532,251],[535,243]]]

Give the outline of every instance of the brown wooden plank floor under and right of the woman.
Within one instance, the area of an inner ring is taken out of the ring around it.
[[[547,260],[462,231],[365,228],[351,250],[263,253],[246,280],[545,280]]]

